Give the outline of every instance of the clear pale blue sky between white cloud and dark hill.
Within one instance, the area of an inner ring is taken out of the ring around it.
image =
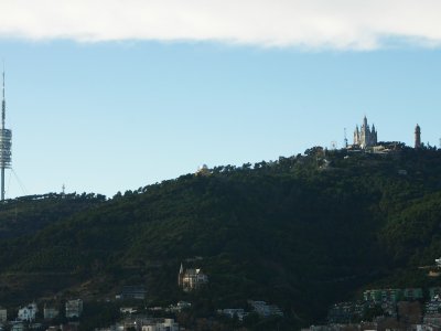
[[[33,35],[21,21],[8,24],[0,23],[0,54],[21,181],[8,172],[9,197],[61,191],[63,183],[67,192],[112,196],[202,163],[275,160],[332,141],[342,147],[344,128],[351,141],[364,115],[379,140],[411,145],[417,122],[424,142],[438,146],[441,138],[441,51],[431,26],[412,28],[418,38],[397,25],[392,36],[322,41],[321,31],[299,40],[277,29],[263,40],[252,31],[235,39],[233,28],[218,36],[209,22],[212,36],[130,35],[140,25],[115,39],[92,28],[78,36],[75,29],[56,35],[49,32],[60,26],[32,25],[42,31]]]

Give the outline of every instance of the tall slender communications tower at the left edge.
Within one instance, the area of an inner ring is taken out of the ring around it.
[[[7,102],[4,98],[4,70],[3,70],[3,98],[1,102],[1,129],[0,129],[1,201],[4,201],[4,169],[11,168],[12,131],[4,127],[6,117],[7,117]]]

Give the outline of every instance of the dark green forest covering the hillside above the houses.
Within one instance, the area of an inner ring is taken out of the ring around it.
[[[315,147],[111,199],[46,194],[0,206],[0,301],[10,305],[115,298],[123,285],[144,285],[148,305],[185,299],[209,317],[266,300],[303,325],[368,287],[440,285],[420,268],[440,256],[435,149]],[[182,261],[208,275],[205,289],[180,291]]]

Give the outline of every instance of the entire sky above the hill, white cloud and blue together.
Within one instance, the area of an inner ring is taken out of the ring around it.
[[[441,2],[2,0],[7,197],[441,138]]]

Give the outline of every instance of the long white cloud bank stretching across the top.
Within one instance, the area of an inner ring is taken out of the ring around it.
[[[0,38],[217,41],[375,50],[441,45],[439,0],[1,0]]]

